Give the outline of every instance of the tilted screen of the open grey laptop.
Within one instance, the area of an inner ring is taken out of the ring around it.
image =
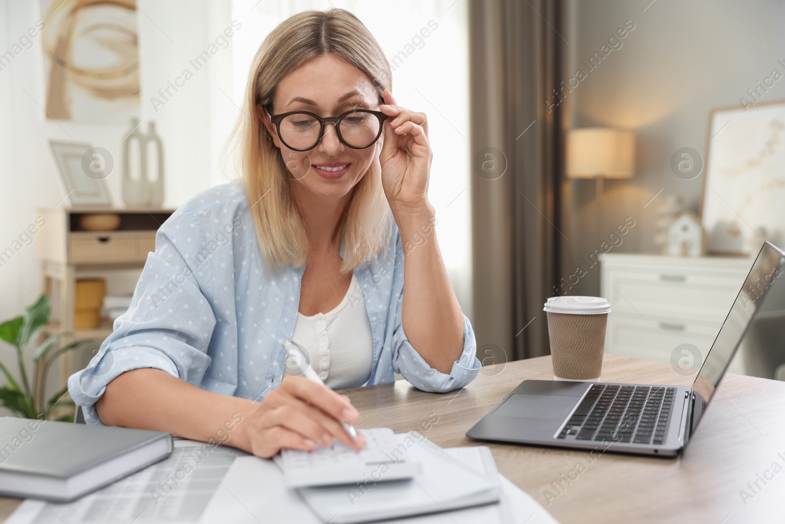
[[[747,280],[744,280],[741,291],[736,296],[736,301],[733,302],[730,313],[725,318],[725,322],[723,322],[720,332],[717,333],[717,338],[714,339],[714,344],[692,384],[692,390],[696,393],[692,431],[695,430],[703,409],[706,408],[710,398],[714,395],[714,390],[725,374],[725,369],[728,368],[733,355],[736,354],[736,348],[739,347],[747,328],[753,323],[757,313],[764,309],[764,298],[767,295],[772,295],[773,299],[772,301],[766,300],[766,309],[775,312],[779,309],[782,314],[785,314],[785,310],[783,310],[785,304],[780,303],[783,302],[783,296],[785,296],[785,283],[782,281],[785,280],[783,258],[785,258],[785,254],[772,244],[765,242],[761,247],[758,258],[755,259],[750,273],[747,275]],[[769,302],[771,302],[770,306]]]

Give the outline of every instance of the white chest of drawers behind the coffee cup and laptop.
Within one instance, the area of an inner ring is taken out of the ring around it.
[[[601,296],[611,302],[605,352],[668,362],[684,343],[706,357],[753,258],[607,254]],[[734,359],[731,371],[739,368]]]

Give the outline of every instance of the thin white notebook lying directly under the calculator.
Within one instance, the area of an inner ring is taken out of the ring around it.
[[[500,486],[416,431],[399,435],[407,460],[422,463],[408,480],[367,478],[344,486],[298,489],[322,522],[353,524],[439,513],[498,502]]]

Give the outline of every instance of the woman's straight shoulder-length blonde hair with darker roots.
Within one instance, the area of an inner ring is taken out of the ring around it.
[[[294,200],[289,170],[259,121],[256,106],[272,114],[280,82],[306,60],[334,53],[367,75],[378,92],[392,90],[392,72],[376,39],[344,9],[305,11],[279,24],[261,43],[248,75],[243,111],[229,149],[241,174],[262,258],[268,269],[305,265],[309,244]],[[373,146],[372,146],[373,147]],[[382,189],[378,156],[352,189],[335,229],[343,246],[341,273],[367,265],[385,252],[392,219]]]

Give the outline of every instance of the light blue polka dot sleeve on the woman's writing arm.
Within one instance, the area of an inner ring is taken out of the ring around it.
[[[158,230],[130,308],[115,320],[89,365],[68,379],[87,423],[101,423],[96,401],[108,383],[132,369],[157,368],[195,386],[202,382],[216,324],[199,286],[210,274],[209,260],[199,257],[203,238],[199,220],[186,211],[177,211]]]

